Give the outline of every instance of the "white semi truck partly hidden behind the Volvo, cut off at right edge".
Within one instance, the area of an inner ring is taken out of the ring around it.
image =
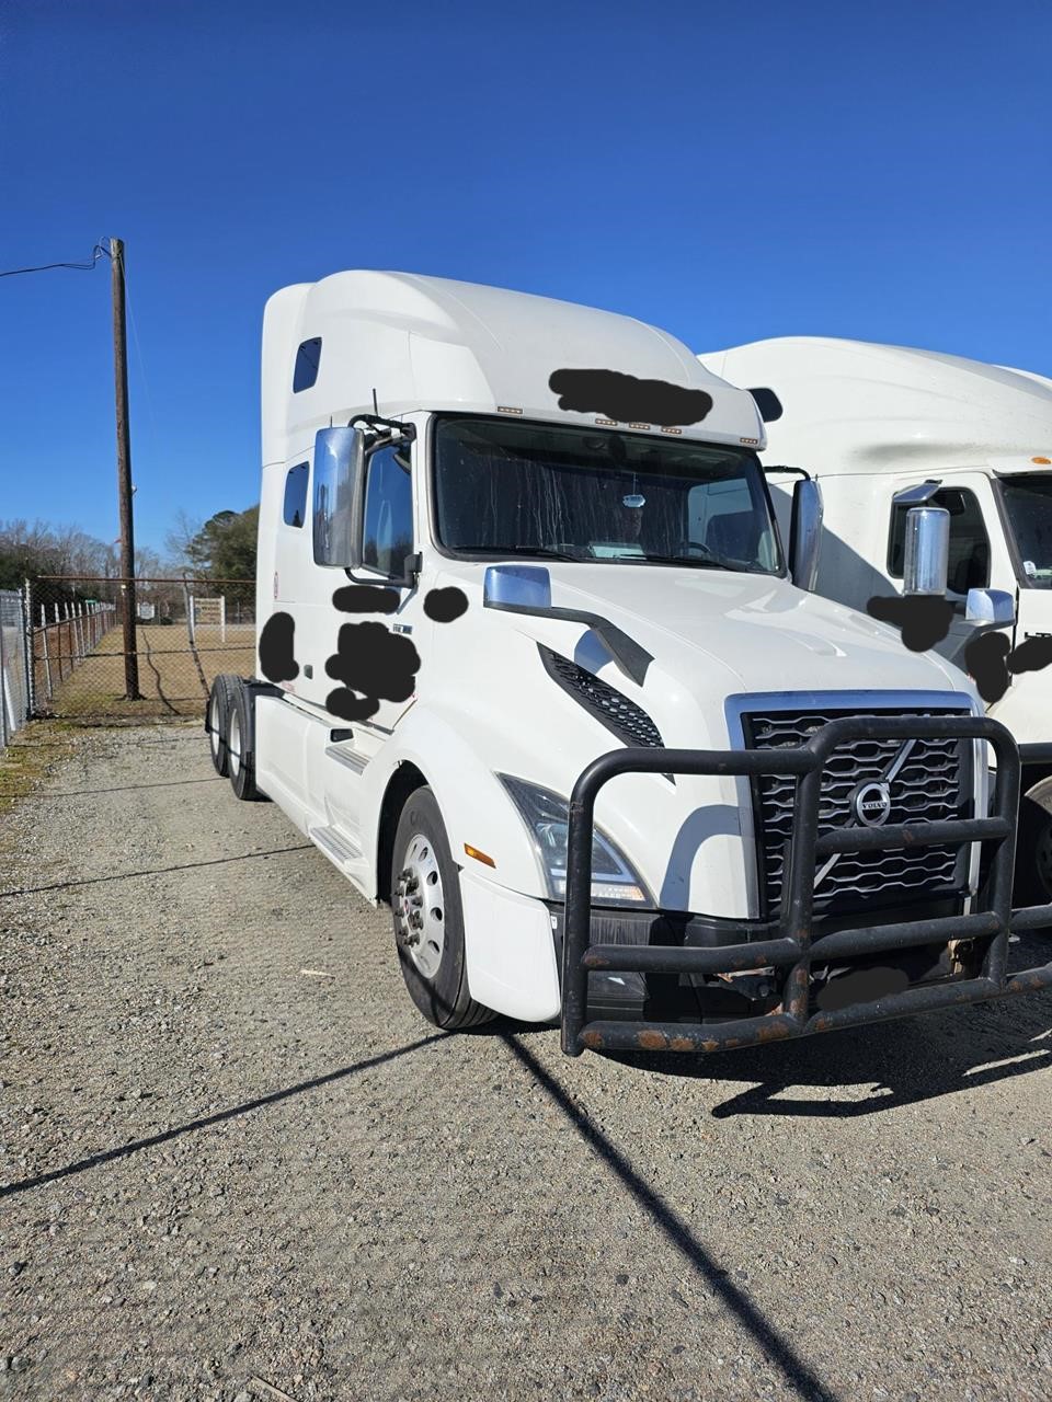
[[[1017,890],[1052,900],[1052,381],[825,336],[756,341],[700,360],[755,387],[769,419],[769,474],[784,464],[819,482],[819,593],[858,610],[895,594],[909,509],[950,513],[937,589],[952,613],[937,646],[966,667],[976,624],[1004,634],[1007,665],[985,694],[1023,760]],[[790,499],[777,481],[784,517]]]

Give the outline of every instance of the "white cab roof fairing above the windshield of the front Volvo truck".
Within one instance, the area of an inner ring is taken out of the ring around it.
[[[293,391],[297,346],[320,341],[317,379]],[[602,363],[596,365],[596,348]],[[616,372],[683,391],[703,391],[703,418],[668,426],[645,412],[582,401],[581,411],[551,387],[560,370]],[[621,428],[762,447],[763,425],[750,395],[722,384],[692,350],[631,317],[551,297],[505,292],[404,272],[338,272],[283,287],[267,303],[262,358],[264,463],[281,461],[290,440],[327,428],[334,414],[417,409],[530,419],[617,419]],[[338,419],[337,419],[338,422]]]

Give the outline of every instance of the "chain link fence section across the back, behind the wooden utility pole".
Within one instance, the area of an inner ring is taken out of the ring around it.
[[[128,599],[119,579],[42,575],[27,583],[32,715],[201,715],[220,672],[252,674],[254,580],[136,579],[130,648]]]

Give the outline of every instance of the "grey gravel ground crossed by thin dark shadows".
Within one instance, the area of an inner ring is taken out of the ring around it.
[[[0,859],[0,1398],[1052,1398],[1051,998],[443,1036],[196,726],[77,736]]]

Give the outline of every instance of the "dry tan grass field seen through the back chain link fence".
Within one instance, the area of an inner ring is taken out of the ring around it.
[[[219,628],[198,628],[196,649],[191,649],[182,624],[139,624],[136,645],[142,700],[125,700],[123,632],[116,627],[60,683],[58,659],[52,656],[50,702],[46,700],[46,672],[38,652],[38,708],[70,719],[201,715],[208,690],[220,672],[247,677],[255,669],[254,624],[229,624],[226,639]]]

